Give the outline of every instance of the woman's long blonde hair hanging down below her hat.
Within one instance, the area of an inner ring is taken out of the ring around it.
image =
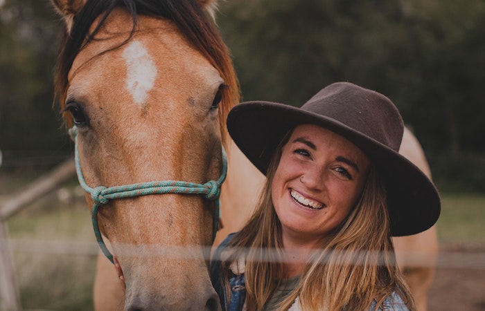
[[[227,285],[229,265],[245,257],[248,310],[263,310],[285,279],[281,223],[274,211],[271,184],[291,132],[270,162],[253,216],[229,244],[231,255],[222,263],[222,280]],[[396,265],[385,189],[371,166],[357,205],[339,227],[322,237],[319,252],[309,258],[299,285],[281,302],[279,310],[288,310],[298,297],[303,310],[361,311],[367,310],[373,300],[378,308],[395,291],[409,310],[415,309]]]

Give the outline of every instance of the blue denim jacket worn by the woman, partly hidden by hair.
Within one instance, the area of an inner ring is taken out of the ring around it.
[[[245,277],[244,273],[241,274],[233,274],[229,279],[229,288],[231,290],[230,294],[230,305],[227,308],[227,302],[229,301],[229,295],[226,292],[222,282],[220,280],[220,267],[221,267],[221,254],[224,249],[227,247],[229,242],[232,240],[235,234],[229,234],[227,238],[215,249],[213,254],[213,259],[211,261],[211,281],[212,285],[215,288],[215,292],[218,293],[220,304],[222,305],[223,311],[243,311],[245,310],[245,300],[246,300],[246,288],[245,288]],[[376,310],[377,301],[373,301],[369,306],[368,311]],[[295,301],[294,305],[288,311],[299,311],[301,308],[299,307],[299,302]],[[409,311],[406,304],[404,303],[403,299],[400,296],[393,292],[390,296],[387,296],[385,301],[382,303],[379,311]]]

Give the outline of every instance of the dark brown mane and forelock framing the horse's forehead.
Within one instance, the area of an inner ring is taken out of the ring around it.
[[[61,111],[66,106],[68,74],[74,59],[82,48],[94,40],[103,23],[116,7],[125,7],[132,16],[133,26],[130,37],[115,48],[126,44],[134,34],[137,15],[164,18],[173,21],[182,35],[218,70],[228,86],[221,90],[222,102],[219,106],[219,122],[222,139],[225,142],[227,113],[240,98],[238,80],[227,46],[213,22],[195,0],[88,0],[74,17],[71,31],[65,30],[62,34],[58,65],[55,70],[55,97],[60,102]],[[100,17],[100,23],[89,33],[91,24],[98,17]],[[72,120],[66,114],[63,115],[63,119],[64,124],[72,126]]]

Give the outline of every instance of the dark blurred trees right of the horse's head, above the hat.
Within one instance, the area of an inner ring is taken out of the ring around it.
[[[300,106],[326,84],[354,82],[388,95],[425,149],[485,149],[483,1],[222,4],[244,100]]]

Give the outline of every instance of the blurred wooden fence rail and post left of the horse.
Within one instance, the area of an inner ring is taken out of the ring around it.
[[[23,189],[11,194],[0,205],[0,310],[18,311],[22,309],[5,221],[8,217],[27,207],[31,202],[51,193],[60,184],[75,175],[74,160],[69,158]]]

